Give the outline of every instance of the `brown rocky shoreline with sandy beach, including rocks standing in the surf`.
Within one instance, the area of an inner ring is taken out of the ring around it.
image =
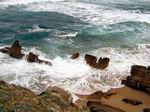
[[[28,62],[52,65],[41,60],[38,55],[29,52],[23,54],[19,41],[11,47],[0,49],[12,58],[26,57]],[[74,53],[71,59],[77,59]],[[109,66],[110,59],[86,54],[85,62],[103,70]],[[40,94],[7,82],[0,81],[0,112],[150,112],[150,67],[133,65],[131,76],[122,80],[125,87],[110,89],[107,92],[96,91],[89,95],[74,94],[78,99],[73,102],[73,93],[59,87],[48,87]]]

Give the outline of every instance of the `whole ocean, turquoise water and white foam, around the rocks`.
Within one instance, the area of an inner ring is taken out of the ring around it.
[[[60,86],[89,94],[122,87],[132,65],[150,65],[149,0],[0,0],[0,48],[19,40],[52,66],[0,53],[0,80],[40,93]],[[71,60],[71,54],[80,58]],[[86,53],[110,58],[89,67]]]

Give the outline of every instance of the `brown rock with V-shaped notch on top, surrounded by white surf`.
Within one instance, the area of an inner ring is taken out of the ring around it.
[[[110,59],[109,58],[100,58],[98,60],[96,56],[86,54],[85,61],[91,67],[103,70],[106,67],[108,67]]]

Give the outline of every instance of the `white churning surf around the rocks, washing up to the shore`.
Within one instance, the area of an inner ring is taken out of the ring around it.
[[[41,55],[38,50],[31,49]],[[28,63],[0,53],[0,79],[28,87],[36,92],[50,85],[62,86],[72,93],[92,93],[97,90],[107,91],[112,87],[121,87],[121,80],[130,75],[134,64],[148,66],[150,63],[150,45],[139,45],[138,48],[119,50],[113,48],[98,49],[89,52],[98,57],[109,57],[110,65],[105,70],[89,67],[84,61],[84,54],[77,60],[56,57],[52,66]],[[46,59],[46,58],[45,58]]]

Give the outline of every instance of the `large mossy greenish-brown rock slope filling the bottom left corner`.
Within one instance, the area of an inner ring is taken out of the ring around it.
[[[71,99],[68,92],[58,87],[36,95],[24,87],[0,81],[0,112],[80,112]]]

